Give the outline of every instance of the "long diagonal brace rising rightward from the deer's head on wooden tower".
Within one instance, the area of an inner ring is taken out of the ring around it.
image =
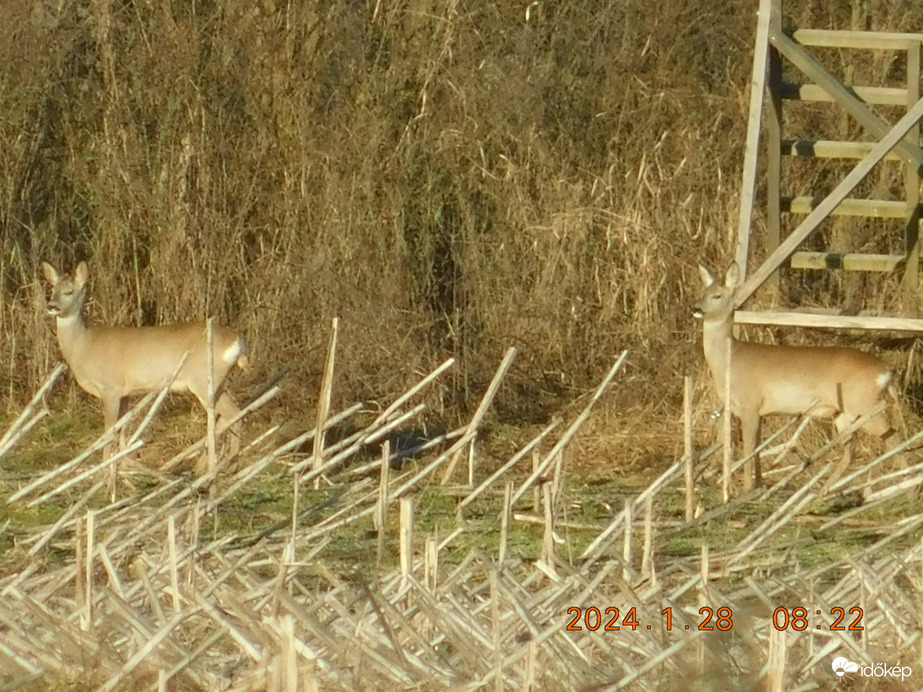
[[[753,291],[755,291],[758,286],[762,285],[766,277],[772,274],[779,265],[795,251],[795,248],[808,237],[811,231],[817,228],[820,222],[827,218],[829,213],[836,208],[840,202],[846,199],[846,195],[852,192],[856,185],[858,185],[866,174],[872,170],[875,164],[881,161],[885,154],[891,151],[891,149],[906,136],[921,117],[923,117],[923,99],[917,101],[913,108],[907,111],[906,115],[891,128],[891,131],[888,132],[878,144],[872,147],[869,155],[856,164],[849,174],[840,181],[840,184],[827,195],[824,201],[818,204],[814,210],[805,217],[798,228],[796,228],[788,238],[782,241],[782,244],[779,245],[775,252],[770,253],[762,266],[743,283],[738,289],[737,296],[735,297],[735,303],[738,307],[743,305],[744,301],[753,294]]]

